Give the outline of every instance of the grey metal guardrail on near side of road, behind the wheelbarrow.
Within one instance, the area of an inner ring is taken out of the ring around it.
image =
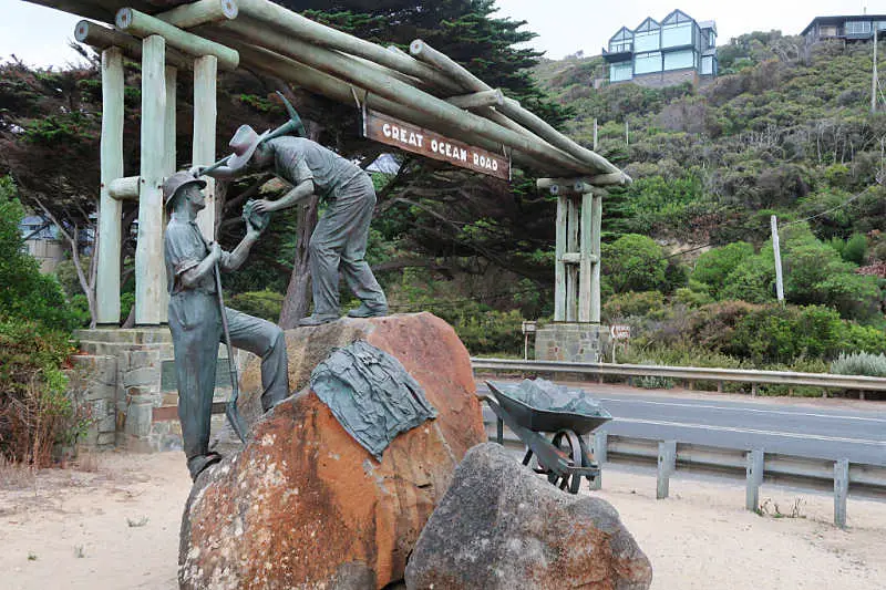
[[[497,439],[497,420],[487,407],[483,410],[486,433]],[[505,446],[522,449],[523,442],[504,428]],[[656,497],[667,498],[670,477],[678,469],[710,472],[745,477],[745,507],[760,510],[760,486],[770,483],[790,483],[800,486],[834,486],[834,524],[846,526],[846,501],[851,488],[855,491],[886,493],[886,466],[849,463],[847,459],[816,459],[796,457],[759,449],[743,449],[678,443],[636,436],[609,435],[605,429],[594,433],[589,441],[593,458],[601,473],[591,489],[602,486],[602,467],[606,463],[642,463],[657,465]]]

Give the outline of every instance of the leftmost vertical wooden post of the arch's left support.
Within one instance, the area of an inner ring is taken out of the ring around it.
[[[123,205],[111,198],[111,180],[123,177],[123,50],[102,52],[101,197],[95,277],[96,321],[120,323],[120,241]]]

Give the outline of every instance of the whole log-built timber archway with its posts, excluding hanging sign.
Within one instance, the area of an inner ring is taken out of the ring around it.
[[[558,196],[555,320],[599,322],[602,187],[630,178],[421,40],[409,52],[383,48],[269,0],[27,1],[97,21],[78,23],[75,39],[102,53],[100,323],[120,321],[121,199],[138,200],[136,323],[165,322],[161,187],[177,165],[176,75],[193,71],[190,161],[208,165],[216,159],[217,71],[237,68],[272,74],[343,104],[357,100],[365,108],[503,154],[548,176],[539,188]],[[124,55],[142,62],[137,176],[123,170]],[[212,197],[209,186],[207,208],[198,219],[208,239],[215,219]]]

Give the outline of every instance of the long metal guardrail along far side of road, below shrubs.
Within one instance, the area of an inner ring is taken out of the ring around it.
[[[471,359],[474,371],[524,371],[533,373],[580,373],[586,375],[659,376],[686,381],[751,383],[754,385],[811,385],[823,389],[886,391],[886,379],[832,373],[789,371],[749,371],[746,369],[707,369],[648,364],[570,363],[562,361],[519,361],[511,359]],[[754,387],[755,390],[755,387]]]

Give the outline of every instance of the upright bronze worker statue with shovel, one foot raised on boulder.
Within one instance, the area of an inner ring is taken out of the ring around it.
[[[233,252],[207,244],[196,224],[197,211],[206,207],[205,180],[179,172],[163,184],[163,197],[172,211],[164,237],[166,277],[169,290],[169,330],[175,349],[178,379],[178,420],[182,422],[185,455],[190,476],[222,456],[209,452],[213,392],[223,341],[220,299],[216,292],[216,267],[236,270],[246,260],[261,231],[249,219],[246,237]],[[276,324],[225,308],[233,346],[261,358],[261,407],[270,410],[289,396],[289,375],[284,332]]]

